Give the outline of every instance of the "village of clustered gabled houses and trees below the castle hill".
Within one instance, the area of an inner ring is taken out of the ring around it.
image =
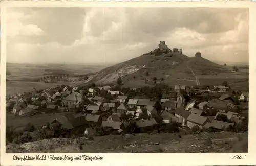
[[[132,133],[248,131],[248,92],[221,86],[157,84],[155,87],[65,86],[6,97],[6,111],[27,118],[22,132],[7,126],[10,143],[45,138],[103,136]],[[35,126],[36,114],[58,113]],[[15,121],[15,120],[14,120]],[[15,133],[15,134],[14,134]],[[181,135],[179,135],[181,137]]]

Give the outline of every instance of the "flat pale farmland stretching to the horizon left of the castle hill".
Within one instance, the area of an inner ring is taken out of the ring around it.
[[[36,89],[45,89],[48,87],[56,87],[61,84],[72,85],[71,82],[57,83],[41,83],[31,82],[32,79],[42,78],[46,74],[71,73],[71,74],[89,74],[96,72],[105,66],[99,65],[69,65],[69,64],[16,64],[7,63],[6,94],[14,94],[17,92],[31,91],[33,87]]]

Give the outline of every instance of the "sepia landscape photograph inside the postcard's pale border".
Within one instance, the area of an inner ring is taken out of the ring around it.
[[[248,153],[249,8],[8,7],[3,23],[6,153]]]

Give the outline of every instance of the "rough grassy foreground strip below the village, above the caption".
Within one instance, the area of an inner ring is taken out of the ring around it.
[[[75,139],[44,139],[6,146],[7,153],[241,153],[248,152],[248,133],[124,134]],[[211,143],[206,139],[210,138]]]

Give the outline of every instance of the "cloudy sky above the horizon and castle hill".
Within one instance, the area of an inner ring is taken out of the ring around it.
[[[7,62],[115,64],[159,41],[220,63],[248,62],[246,8],[7,9]]]

